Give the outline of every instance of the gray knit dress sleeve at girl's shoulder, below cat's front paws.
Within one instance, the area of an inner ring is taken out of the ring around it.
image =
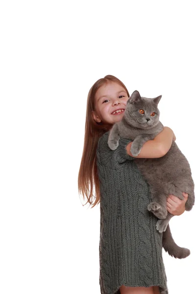
[[[135,157],[130,156],[126,152],[126,146],[132,142],[130,139],[119,139],[119,146],[116,150],[111,150],[107,144],[109,131],[103,134],[98,141],[97,156],[98,162],[111,169],[118,169],[126,161],[132,161]]]

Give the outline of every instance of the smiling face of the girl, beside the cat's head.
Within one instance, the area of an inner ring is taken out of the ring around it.
[[[128,98],[125,89],[115,82],[101,86],[95,95],[94,120],[98,123],[114,124],[120,122]],[[115,112],[117,110],[121,111]]]

